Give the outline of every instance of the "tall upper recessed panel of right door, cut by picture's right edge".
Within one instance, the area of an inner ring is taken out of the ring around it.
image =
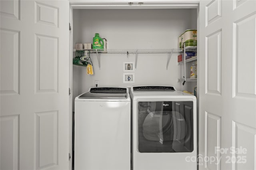
[[[256,97],[255,24],[256,12],[233,23],[233,97]]]

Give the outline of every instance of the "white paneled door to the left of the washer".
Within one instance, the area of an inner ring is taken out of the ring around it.
[[[1,0],[1,170],[69,167],[69,2]]]

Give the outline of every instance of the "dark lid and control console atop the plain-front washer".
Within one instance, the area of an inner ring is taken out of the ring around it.
[[[95,87],[78,97],[79,99],[126,99],[126,88]]]

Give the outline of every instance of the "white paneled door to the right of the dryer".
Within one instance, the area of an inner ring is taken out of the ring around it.
[[[256,170],[256,1],[201,1],[199,40],[199,169]]]

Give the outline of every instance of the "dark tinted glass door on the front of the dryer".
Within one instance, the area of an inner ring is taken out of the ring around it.
[[[193,150],[193,101],[138,102],[139,152]]]

